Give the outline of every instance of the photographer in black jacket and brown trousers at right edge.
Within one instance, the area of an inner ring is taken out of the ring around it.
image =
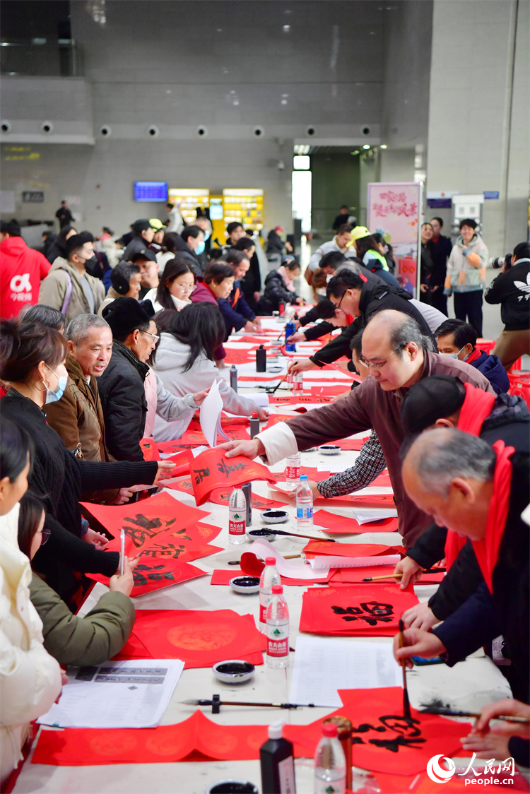
[[[484,293],[486,303],[501,304],[505,329],[493,349],[506,369],[526,353],[530,355],[530,244],[519,243]]]

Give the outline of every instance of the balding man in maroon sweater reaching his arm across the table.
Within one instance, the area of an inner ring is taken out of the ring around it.
[[[279,422],[252,441],[228,441],[221,447],[228,450],[226,457],[261,455],[272,465],[298,450],[373,428],[389,467],[399,531],[408,548],[432,519],[408,497],[401,479],[399,451],[404,430],[400,408],[404,394],[430,375],[458,376],[464,383],[493,390],[489,380],[474,367],[431,352],[431,340],[420,332],[416,321],[395,310],[381,311],[368,322],[362,334],[362,358],[369,376],[346,397],[288,422]]]

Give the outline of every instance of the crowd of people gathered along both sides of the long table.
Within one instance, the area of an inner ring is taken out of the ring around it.
[[[300,263],[280,227],[268,238],[280,264],[262,283],[256,242],[242,224],[230,223],[226,244],[214,248],[209,219],[185,225],[172,205],[166,223],[139,219],[122,237],[105,227],[95,239],[63,203],[60,232],[48,235],[44,252],[25,245],[16,222],[2,222],[2,781],[29,723],[59,696],[61,665],[106,661],[133,627],[135,561],[119,574],[118,553],[106,551],[108,538],[79,503],[130,503],[163,484],[174,464],[145,461],[142,439],[182,436],[217,380],[230,414],[265,420],[265,409],[219,378],[223,345],[234,332],[261,333],[261,316],[286,305],[300,310],[292,341],[329,337],[292,372],[346,356],[362,382],[252,441],[222,445],[226,457],[274,464],[369,430],[354,466],[311,489],[323,498],[350,493],[388,468],[406,551],[396,569],[401,587],[437,561],[447,565],[435,595],[404,615],[396,658],[454,665],[502,634],[516,700],[489,707],[468,746],[530,765],[528,735],[488,733],[496,714],[529,713],[530,417],[524,400],[508,394],[507,369],[530,353],[530,246],[516,245],[485,288],[488,251],[476,223],[463,220],[451,245],[432,218],[421,229],[416,300],[381,234],[354,226],[347,210],[304,273],[311,308],[296,293]],[[455,319],[447,317],[451,293]],[[478,342],[483,296],[501,303],[505,323],[493,353]],[[87,573],[108,576],[110,592],[79,618]]]

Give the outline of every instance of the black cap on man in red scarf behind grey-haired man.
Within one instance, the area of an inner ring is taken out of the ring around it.
[[[403,400],[401,424],[405,435],[418,434],[436,419],[452,416],[462,408],[466,388],[460,378],[432,375],[412,386]]]

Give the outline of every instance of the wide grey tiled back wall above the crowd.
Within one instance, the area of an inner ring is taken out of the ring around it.
[[[8,160],[4,152],[3,188],[16,192],[21,218],[50,218],[60,198],[72,195],[80,198],[82,225],[123,231],[135,218],[163,214],[160,205],[133,202],[137,179],[212,193],[262,187],[266,225],[290,229],[295,138],[380,141],[385,25],[385,7],[366,0],[349,4],[348,13],[335,0],[107,0],[106,25],[91,18],[85,2],[72,2],[72,36],[86,75],[79,91],[91,97],[95,145],[64,145],[60,108],[51,119],[56,129],[44,135],[42,114],[52,107],[55,113],[49,81],[41,79],[35,104],[25,101],[22,79],[11,78],[18,84],[2,118],[13,119],[13,131],[0,139],[12,146],[30,132],[37,137],[25,143],[39,157]],[[101,134],[103,125],[110,136]],[[157,137],[149,136],[150,125]],[[206,136],[199,137],[199,125]],[[36,184],[46,186],[44,205],[28,210],[20,193]]]

